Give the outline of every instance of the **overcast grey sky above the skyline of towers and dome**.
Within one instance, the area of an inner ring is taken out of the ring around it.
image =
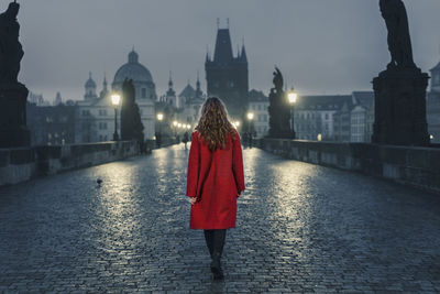
[[[89,70],[111,84],[134,45],[157,95],[173,70],[175,90],[200,70],[230,19],[234,54],[246,46],[250,88],[272,87],[274,65],[300,94],[371,89],[389,53],[378,0],[19,0],[24,48],[19,79],[45,99],[82,99]],[[405,0],[416,64],[440,61],[440,1]],[[8,2],[1,1],[4,11]]]

